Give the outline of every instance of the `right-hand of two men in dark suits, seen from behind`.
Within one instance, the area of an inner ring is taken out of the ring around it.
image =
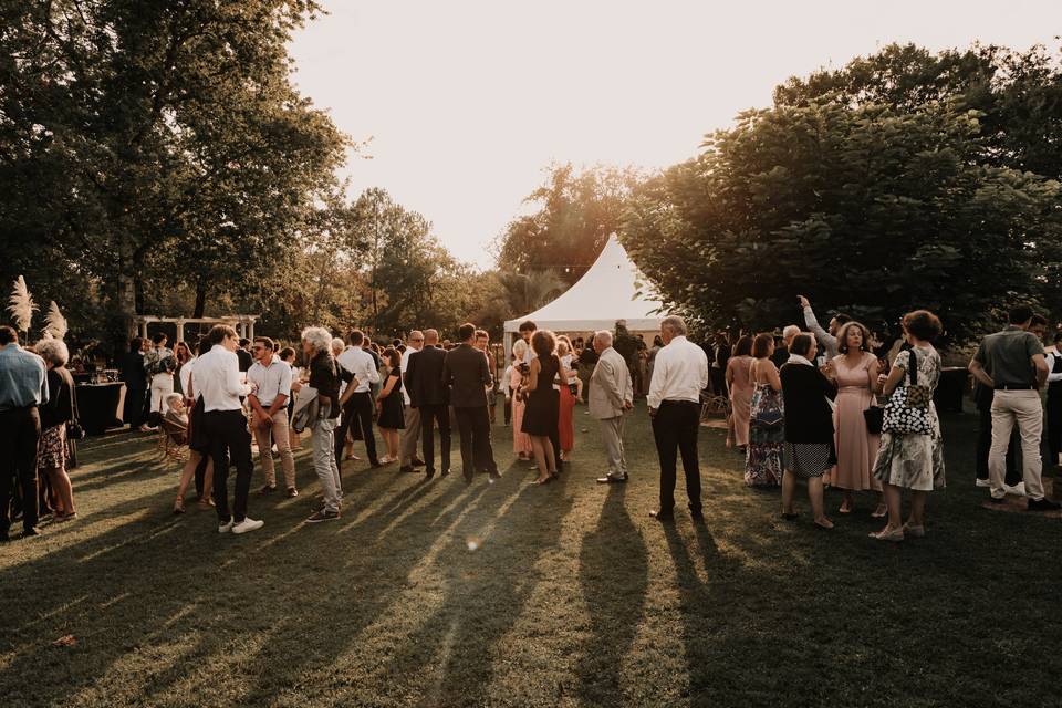
[[[450,405],[461,435],[461,471],[465,483],[477,471],[498,479],[498,465],[490,447],[490,417],[487,414],[487,386],[492,383],[483,353],[472,346],[476,325],[465,323],[458,330],[457,348],[447,352],[442,363],[442,383],[450,388]]]

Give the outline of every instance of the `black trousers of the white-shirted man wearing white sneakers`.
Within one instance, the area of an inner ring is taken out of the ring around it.
[[[247,517],[247,497],[251,491],[251,434],[242,410],[208,410],[202,414],[202,431],[210,442],[214,460],[214,504],[218,520],[227,523],[231,518],[239,523]],[[229,516],[229,456],[236,464],[236,498]]]

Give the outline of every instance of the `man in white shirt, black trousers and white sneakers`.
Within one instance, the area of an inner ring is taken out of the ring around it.
[[[210,330],[210,351],[196,362],[196,395],[202,396],[202,431],[214,459],[214,503],[218,511],[220,533],[247,533],[264,523],[247,516],[247,498],[251,490],[251,434],[240,396],[251,393],[241,381],[240,361],[236,356],[239,337],[227,324]],[[236,464],[236,498],[229,513],[229,456]]]

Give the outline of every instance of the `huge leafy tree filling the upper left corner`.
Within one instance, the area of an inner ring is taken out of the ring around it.
[[[289,82],[288,40],[317,8],[3,4],[0,242],[54,254],[43,292],[76,280],[122,329],[166,283],[194,282],[201,313],[211,285],[260,279],[348,145]]]

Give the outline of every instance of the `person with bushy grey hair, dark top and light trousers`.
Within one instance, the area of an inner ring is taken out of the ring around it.
[[[317,395],[317,416],[311,421],[313,431],[313,470],[321,480],[323,498],[306,523],[334,521],[340,518],[340,468],[335,460],[335,421],[340,416],[340,371],[332,356],[332,335],[323,327],[302,331],[302,351],[310,362],[310,388]],[[308,392],[303,389],[303,395]]]

